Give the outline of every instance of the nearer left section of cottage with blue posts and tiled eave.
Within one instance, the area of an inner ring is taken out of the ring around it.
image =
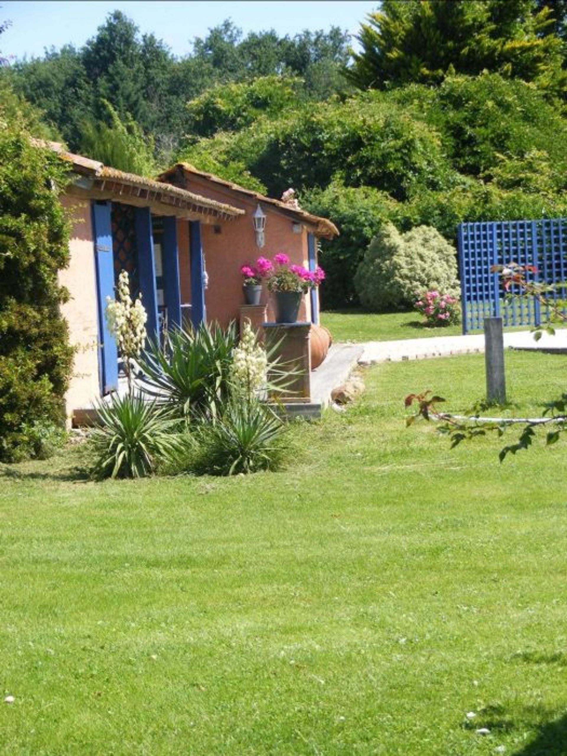
[[[76,349],[66,398],[73,420],[74,411],[118,386],[116,341],[104,310],[120,271],[128,271],[135,292],[141,292],[148,333],[181,325],[184,318],[197,325],[205,317],[201,229],[234,222],[243,210],[51,147],[70,163],[74,177],[61,197],[73,229],[70,265],[60,271],[70,293],[62,311]],[[193,289],[184,293],[180,260],[193,270]]]

